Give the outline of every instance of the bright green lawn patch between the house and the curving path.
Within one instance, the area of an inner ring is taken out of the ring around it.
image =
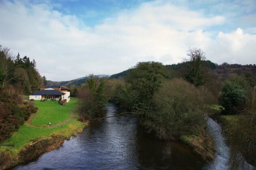
[[[31,121],[32,125],[46,126],[49,122],[52,125],[56,125],[69,119],[72,110],[76,107],[76,98],[71,98],[71,100],[65,105],[58,104],[58,101],[47,100],[41,102],[39,100],[34,101],[34,105],[39,108],[39,113],[35,115]]]

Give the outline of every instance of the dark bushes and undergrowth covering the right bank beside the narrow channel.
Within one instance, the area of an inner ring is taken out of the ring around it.
[[[247,163],[256,166],[256,75],[233,74],[220,95],[222,109],[214,115],[222,124],[230,144],[230,164],[236,169]]]

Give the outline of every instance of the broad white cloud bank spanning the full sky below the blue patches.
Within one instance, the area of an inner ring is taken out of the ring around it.
[[[212,39],[203,30],[223,24],[224,17],[205,17],[162,1],[121,11],[94,28],[47,4],[2,1],[0,16],[0,43],[34,58],[41,75],[53,81],[114,74],[140,61],[181,62],[188,47],[202,48],[217,63],[256,63],[255,35],[239,28]]]

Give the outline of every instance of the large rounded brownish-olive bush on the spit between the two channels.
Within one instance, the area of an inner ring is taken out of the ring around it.
[[[178,140],[182,135],[199,134],[204,128],[205,106],[214,101],[206,89],[198,89],[183,79],[163,83],[154,95],[154,110],[142,124],[164,140]]]

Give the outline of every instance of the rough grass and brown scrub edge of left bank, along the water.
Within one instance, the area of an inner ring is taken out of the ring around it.
[[[56,127],[58,129],[49,135],[30,140],[22,147],[17,148],[11,144],[2,144],[0,148],[0,169],[11,168],[37,159],[41,154],[60,147],[65,139],[81,133],[84,127],[88,125],[88,122],[82,123],[76,119],[77,117],[67,125],[63,125],[64,127],[61,127],[61,129]]]

